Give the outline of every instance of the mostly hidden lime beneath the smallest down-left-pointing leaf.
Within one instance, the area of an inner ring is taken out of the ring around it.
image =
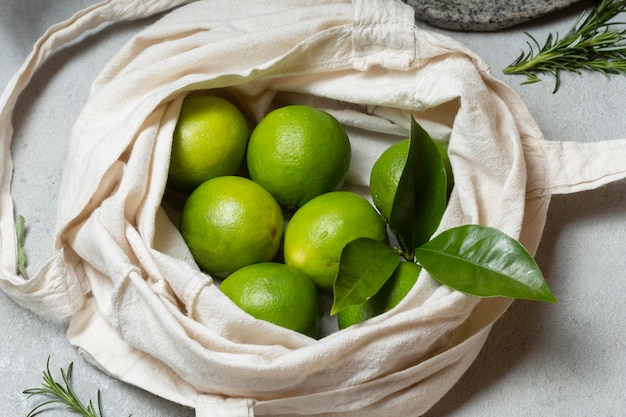
[[[413,262],[402,262],[385,285],[363,304],[349,306],[337,314],[339,329],[361,323],[397,306],[417,282],[422,268]]]

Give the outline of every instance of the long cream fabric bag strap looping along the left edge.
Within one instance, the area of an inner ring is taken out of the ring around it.
[[[42,268],[47,270],[46,273],[42,270],[29,281],[17,275],[17,240],[13,200],[11,198],[13,174],[11,141],[13,139],[13,110],[19,95],[28,86],[35,72],[54,52],[77,40],[88,30],[95,29],[105,23],[146,18],[192,1],[194,0],[104,0],[85,8],[69,19],[51,26],[37,40],[31,53],[3,91],[0,97],[0,141],[2,143],[0,146],[0,288],[20,305],[35,312],[45,311],[57,316],[66,316],[72,313],[72,306],[76,304],[76,301],[66,304],[60,310],[59,308],[47,308],[60,304],[58,298],[62,291],[58,285],[41,282],[57,275],[50,274],[50,269],[58,269],[59,262],[56,257]],[[35,287],[37,290],[33,289]],[[75,296],[78,288],[68,291],[68,295]],[[56,294],[54,294],[55,292]],[[28,294],[33,294],[33,299],[30,301]],[[71,296],[68,298],[72,298]],[[50,303],[43,302],[46,299],[50,299]],[[46,307],[41,304],[49,305]]]

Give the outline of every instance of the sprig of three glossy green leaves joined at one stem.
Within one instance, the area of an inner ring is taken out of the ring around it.
[[[556,302],[532,255],[506,233],[468,224],[434,236],[449,183],[437,145],[411,118],[408,155],[388,220],[398,247],[368,238],[348,243],[334,281],[331,314],[377,297],[402,262],[415,262],[441,284],[466,294]]]

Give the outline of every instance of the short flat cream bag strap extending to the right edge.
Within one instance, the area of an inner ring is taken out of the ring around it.
[[[626,139],[545,141],[544,152],[553,194],[592,190],[626,178]]]

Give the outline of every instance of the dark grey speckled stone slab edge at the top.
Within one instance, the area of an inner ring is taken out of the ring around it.
[[[444,29],[493,31],[545,16],[583,0],[403,0],[416,20]]]

